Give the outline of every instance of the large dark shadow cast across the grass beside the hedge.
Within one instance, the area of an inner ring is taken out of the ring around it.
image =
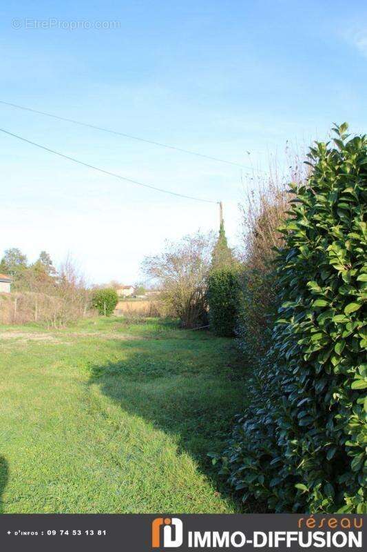
[[[224,449],[233,417],[245,406],[244,367],[233,342],[202,333],[121,347],[119,362],[90,367],[90,384],[123,411],[174,437],[178,453],[189,453],[198,470],[233,500],[208,456]]]

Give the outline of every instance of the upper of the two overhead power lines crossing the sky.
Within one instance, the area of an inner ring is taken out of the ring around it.
[[[253,167],[248,165],[242,165],[240,163],[235,163],[235,161],[228,161],[227,159],[220,159],[220,157],[213,157],[211,155],[205,155],[204,153],[199,153],[192,150],[185,150],[184,148],[178,148],[177,146],[170,146],[169,144],[162,144],[161,142],[156,142],[154,140],[149,140],[146,138],[140,138],[138,136],[133,136],[127,134],[126,132],[118,132],[118,130],[112,130],[111,128],[105,128],[103,126],[92,125],[88,123],[83,123],[82,121],[76,121],[75,119],[68,119],[67,117],[60,117],[59,115],[54,115],[53,113],[48,113],[45,111],[39,111],[32,108],[27,108],[25,106],[19,106],[17,103],[10,103],[9,101],[0,100],[4,106],[10,106],[12,108],[23,109],[24,111],[30,111],[32,113],[37,113],[38,115],[45,115],[45,117],[52,117],[53,119],[59,119],[59,121],[67,121],[68,123],[74,123],[80,126],[86,126],[88,128],[94,128],[94,130],[102,130],[103,132],[109,132],[110,134],[123,136],[132,140],[138,140],[140,142],[145,142],[146,144],[153,144],[154,146],[160,146],[161,148],[167,148],[169,150],[180,151],[182,153],[187,153],[189,155],[196,155],[196,157],[203,157],[204,159],[211,159],[211,161],[217,161],[218,163],[225,163],[227,165],[233,165],[240,168],[247,168],[253,170]]]

